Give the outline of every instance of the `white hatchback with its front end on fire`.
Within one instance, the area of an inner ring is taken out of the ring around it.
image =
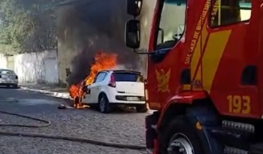
[[[112,108],[135,106],[138,112],[146,112],[144,78],[140,72],[130,70],[103,70],[94,82],[87,86],[83,103],[98,106],[100,112],[109,113]]]

